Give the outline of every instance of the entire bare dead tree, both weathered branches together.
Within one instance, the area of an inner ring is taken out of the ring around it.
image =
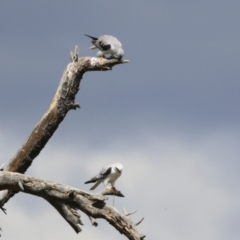
[[[88,71],[111,70],[117,64],[127,63],[128,60],[105,59],[95,57],[78,57],[78,47],[71,52],[71,63],[63,72],[57,92],[40,122],[33,129],[27,141],[17,151],[4,170],[0,167],[0,209],[6,213],[4,204],[17,192],[25,192],[48,201],[78,233],[81,216],[77,210],[83,211],[90,218],[93,226],[97,226],[97,218],[103,218],[115,227],[128,239],[141,240],[141,235],[131,219],[130,214],[121,214],[114,207],[107,205],[106,195],[124,197],[120,191],[104,190],[91,194],[76,188],[64,186],[58,183],[32,178],[25,173],[33,160],[38,156],[48,140],[52,137],[59,124],[69,110],[80,108],[75,103],[75,96],[79,90],[82,77]],[[15,173],[14,173],[15,172]],[[16,173],[17,172],[17,173]]]

